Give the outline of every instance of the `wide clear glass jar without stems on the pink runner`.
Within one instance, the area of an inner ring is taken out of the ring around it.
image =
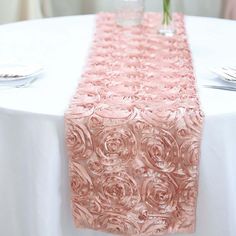
[[[141,24],[144,12],[144,0],[116,0],[116,22],[123,27]]]

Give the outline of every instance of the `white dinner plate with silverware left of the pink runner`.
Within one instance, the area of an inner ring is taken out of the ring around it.
[[[38,79],[42,72],[39,65],[0,64],[0,86],[20,87]]]

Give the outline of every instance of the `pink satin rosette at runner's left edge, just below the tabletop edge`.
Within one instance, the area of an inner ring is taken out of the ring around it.
[[[68,121],[67,125],[67,146],[72,161],[87,159],[93,152],[90,133],[82,124],[75,120]]]

